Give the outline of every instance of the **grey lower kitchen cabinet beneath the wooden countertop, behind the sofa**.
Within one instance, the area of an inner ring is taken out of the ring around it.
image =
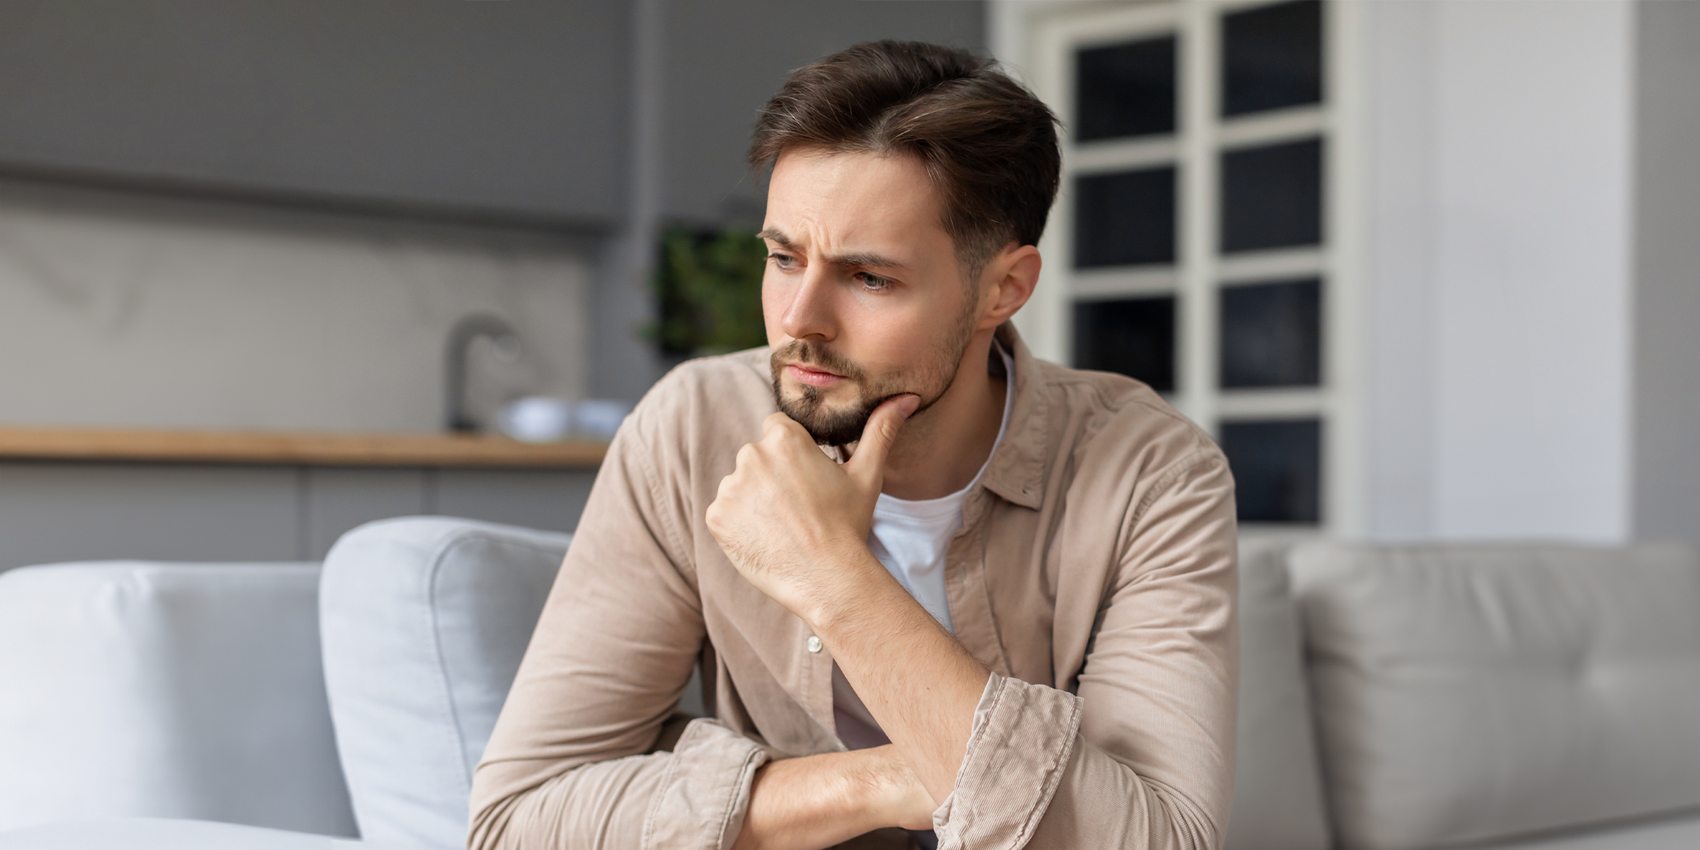
[[[83,559],[311,561],[362,522],[573,530],[593,469],[0,462],[0,571]]]

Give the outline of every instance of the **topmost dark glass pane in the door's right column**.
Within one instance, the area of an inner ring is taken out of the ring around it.
[[[1299,0],[1222,15],[1222,114],[1323,100],[1323,3]]]

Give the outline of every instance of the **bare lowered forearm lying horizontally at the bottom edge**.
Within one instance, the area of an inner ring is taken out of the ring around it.
[[[733,850],[816,850],[884,826],[915,826],[913,777],[887,746],[768,762],[755,774]]]

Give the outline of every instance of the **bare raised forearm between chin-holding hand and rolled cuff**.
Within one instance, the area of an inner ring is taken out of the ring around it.
[[[989,672],[976,661],[889,573],[845,564],[867,576],[811,612],[811,626],[881,729],[942,804],[955,785]]]

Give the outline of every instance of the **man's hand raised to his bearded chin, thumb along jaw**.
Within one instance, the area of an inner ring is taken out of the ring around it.
[[[843,581],[855,580],[823,564],[877,566],[867,534],[886,454],[918,405],[918,396],[903,394],[876,408],[855,456],[843,466],[826,457],[790,416],[768,416],[762,439],[738,450],[738,468],[721,481],[707,510],[709,530],[733,566],[813,624],[813,612],[838,597]]]

